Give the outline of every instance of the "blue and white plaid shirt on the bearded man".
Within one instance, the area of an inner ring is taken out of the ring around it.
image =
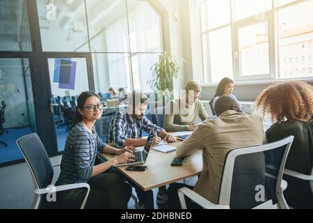
[[[107,143],[114,143],[118,148],[122,148],[127,138],[136,139],[141,137],[141,130],[150,132],[151,129],[159,134],[164,131],[163,128],[155,125],[146,116],[143,116],[141,120],[134,121],[128,113],[123,114],[118,112],[111,119],[108,137],[106,137]]]

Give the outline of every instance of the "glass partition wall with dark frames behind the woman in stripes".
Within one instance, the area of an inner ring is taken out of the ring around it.
[[[22,161],[15,140],[30,132],[48,155],[60,154],[72,121],[67,106],[82,91],[150,91],[163,40],[148,1],[12,0],[0,8],[0,141],[8,144],[0,144],[0,165]]]

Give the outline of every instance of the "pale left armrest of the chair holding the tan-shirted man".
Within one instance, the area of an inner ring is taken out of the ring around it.
[[[198,205],[202,206],[202,208],[206,208],[206,209],[230,209],[230,206],[218,205],[218,204],[211,203],[211,201],[208,201],[207,199],[200,196],[199,194],[197,194],[193,190],[190,190],[187,187],[182,187],[178,190],[178,197],[179,197],[179,201],[180,201],[180,204],[181,204],[183,209],[187,208],[184,196],[190,198],[195,203],[198,203]]]

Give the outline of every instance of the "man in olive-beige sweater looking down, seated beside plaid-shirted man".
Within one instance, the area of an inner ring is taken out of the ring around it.
[[[202,121],[209,116],[202,102],[198,100],[202,91],[200,84],[190,81],[185,86],[186,93],[182,98],[171,100],[166,108],[163,127],[169,132],[193,131],[197,127],[195,119]]]

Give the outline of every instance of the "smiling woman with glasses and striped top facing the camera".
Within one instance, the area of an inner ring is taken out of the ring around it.
[[[102,116],[103,105],[99,96],[85,91],[77,100],[73,127],[67,136],[61,161],[61,174],[56,185],[88,183],[90,193],[86,208],[127,208],[131,186],[118,174],[102,174],[114,164],[131,161],[134,147],[116,149],[104,144],[95,131],[95,121]],[[113,160],[95,165],[97,151],[116,154]],[[79,208],[84,189],[60,192],[56,196],[61,208]]]

